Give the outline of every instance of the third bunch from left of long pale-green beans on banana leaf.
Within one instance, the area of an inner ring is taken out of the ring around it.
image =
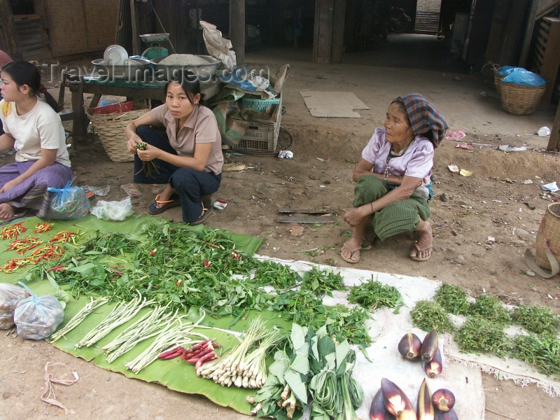
[[[158,332],[177,315],[177,311],[174,314],[165,314],[167,306],[169,304],[165,307],[155,307],[142,316],[139,321],[120,332],[112,342],[103,346],[102,350],[107,355],[107,363],[113,363],[116,358],[132,350],[139,342],[158,335]]]

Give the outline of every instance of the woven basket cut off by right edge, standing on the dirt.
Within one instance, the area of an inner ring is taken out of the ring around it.
[[[537,232],[535,248],[535,262],[542,269],[551,269],[546,254],[547,248],[560,263],[560,203],[548,205]]]

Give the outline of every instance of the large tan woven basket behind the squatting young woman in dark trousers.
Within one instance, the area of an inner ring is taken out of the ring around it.
[[[93,114],[86,109],[93,130],[99,136],[107,155],[113,162],[132,162],[134,155],[127,149],[125,127],[149,109],[137,109],[124,113]]]

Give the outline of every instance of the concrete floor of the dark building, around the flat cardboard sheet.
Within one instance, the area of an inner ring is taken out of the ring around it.
[[[493,72],[470,74],[468,66],[455,57],[436,36],[389,34],[385,43],[355,52],[344,52],[341,64],[313,63],[312,48],[259,48],[246,52],[246,65],[266,65],[276,69],[290,63],[286,82],[289,92],[283,104],[297,110],[299,124],[360,125],[340,118],[309,118],[299,90],[354,92],[370,111],[360,111],[364,119],[377,123],[385,115],[391,99],[409,92],[430,98],[446,116],[450,128],[465,127],[485,135],[510,137],[508,143],[528,143],[545,148],[547,140],[530,137],[542,126],[552,128],[558,104],[551,103],[530,116],[513,116],[501,108],[493,87]],[[289,118],[286,116],[286,121]],[[362,122],[363,122],[362,120]]]

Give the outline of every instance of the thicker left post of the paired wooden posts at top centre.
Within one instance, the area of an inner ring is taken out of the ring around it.
[[[334,3],[334,0],[315,1],[315,28],[313,36],[313,62],[315,64],[330,64]]]

